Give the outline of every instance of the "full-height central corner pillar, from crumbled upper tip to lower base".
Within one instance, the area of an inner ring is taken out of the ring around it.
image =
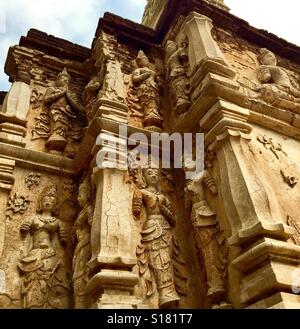
[[[132,272],[137,259],[136,246],[132,245],[132,196],[125,184],[127,134],[119,136],[119,126],[127,124],[128,109],[122,88],[116,89],[123,83],[121,69],[115,60],[114,65],[118,69],[106,70],[95,104],[96,117],[87,132],[96,140],[92,164],[96,199],[87,293],[92,299],[91,307],[97,309],[138,308],[141,303],[133,296],[139,277]],[[114,157],[117,166],[111,163]]]

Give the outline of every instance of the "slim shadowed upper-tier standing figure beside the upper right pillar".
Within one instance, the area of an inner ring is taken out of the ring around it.
[[[189,99],[189,81],[187,78],[186,63],[188,54],[186,49],[178,47],[174,41],[167,41],[165,46],[167,79],[174,97],[175,113],[180,115],[186,112],[191,104]]]

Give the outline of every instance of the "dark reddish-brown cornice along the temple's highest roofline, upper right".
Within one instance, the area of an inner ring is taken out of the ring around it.
[[[116,35],[120,41],[138,44],[140,48],[160,45],[179,16],[187,16],[191,11],[211,18],[216,27],[228,30],[258,47],[268,48],[277,55],[300,64],[299,46],[265,30],[257,29],[245,20],[216,8],[204,0],[169,0],[155,31],[117,15],[105,13],[104,17],[99,20],[94,43],[100,31],[104,30]]]

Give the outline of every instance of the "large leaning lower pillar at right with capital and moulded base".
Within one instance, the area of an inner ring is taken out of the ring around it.
[[[238,299],[251,307],[257,302],[272,307],[279,301],[288,307],[295,296],[280,293],[291,292],[300,248],[287,243],[293,229],[284,224],[276,195],[247,152],[251,140],[248,116],[248,110],[219,101],[200,126],[207,133],[209,150],[217,155],[229,243],[240,250],[231,263],[241,279]]]

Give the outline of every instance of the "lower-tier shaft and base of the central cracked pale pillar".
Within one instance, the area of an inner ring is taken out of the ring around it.
[[[93,308],[137,308],[139,304],[132,296],[138,276],[131,271],[137,261],[124,175],[118,169],[94,170],[97,194],[91,231],[92,276],[87,287]]]

